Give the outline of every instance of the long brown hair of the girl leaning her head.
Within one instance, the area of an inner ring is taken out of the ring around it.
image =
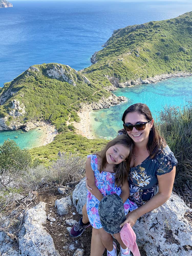
[[[123,185],[123,183],[127,180],[128,174],[129,174],[129,168],[130,168],[130,162],[131,162],[131,155],[133,152],[133,142],[130,137],[127,137],[126,135],[122,134],[114,138],[112,141],[109,141],[106,146],[101,150],[100,152],[96,153],[98,156],[101,157],[101,167],[100,167],[100,173],[107,165],[107,159],[106,159],[106,151],[116,145],[120,144],[129,149],[129,155],[126,157],[125,161],[121,162],[120,164],[114,165],[114,172],[116,173],[115,176],[115,185],[118,187]]]

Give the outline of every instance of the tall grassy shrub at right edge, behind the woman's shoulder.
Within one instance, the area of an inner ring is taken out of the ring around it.
[[[178,160],[174,187],[191,202],[192,198],[192,103],[182,107],[166,106],[158,127]]]

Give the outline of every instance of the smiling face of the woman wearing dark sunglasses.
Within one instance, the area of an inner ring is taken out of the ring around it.
[[[132,125],[135,125],[137,123],[141,122],[147,122],[148,120],[145,118],[144,115],[139,114],[138,112],[130,112],[126,114],[125,116],[125,123],[129,123]],[[133,127],[133,130],[128,132],[127,134],[132,138],[134,143],[140,143],[140,142],[148,142],[149,138],[149,132],[150,128],[153,126],[153,120],[151,122],[147,123],[145,126],[145,129],[142,131],[138,131],[135,127]]]

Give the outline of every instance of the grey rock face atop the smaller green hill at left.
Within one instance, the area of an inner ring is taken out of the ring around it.
[[[76,82],[82,81],[84,83],[89,84],[90,81],[82,75],[80,72],[78,72],[75,69],[72,69],[68,65],[60,65],[60,64],[52,64],[50,65],[47,70],[46,74],[50,78],[58,79],[63,82],[68,82],[69,84],[72,84],[73,86],[77,86]]]

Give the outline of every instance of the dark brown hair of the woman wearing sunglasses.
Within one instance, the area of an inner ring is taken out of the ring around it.
[[[144,103],[135,103],[131,106],[129,106],[128,109],[125,110],[122,116],[122,121],[125,123],[125,116],[130,112],[137,112],[140,115],[145,116],[146,120],[152,120],[152,114],[148,106]],[[128,135],[128,134],[127,134]],[[128,135],[129,136],[129,135]],[[165,139],[160,136],[159,131],[155,127],[155,124],[153,123],[153,126],[151,128],[151,131],[149,133],[149,139],[147,143],[147,150],[149,151],[150,157],[153,159],[156,154],[159,152],[159,150],[163,150],[164,147],[166,147],[166,141]]]

